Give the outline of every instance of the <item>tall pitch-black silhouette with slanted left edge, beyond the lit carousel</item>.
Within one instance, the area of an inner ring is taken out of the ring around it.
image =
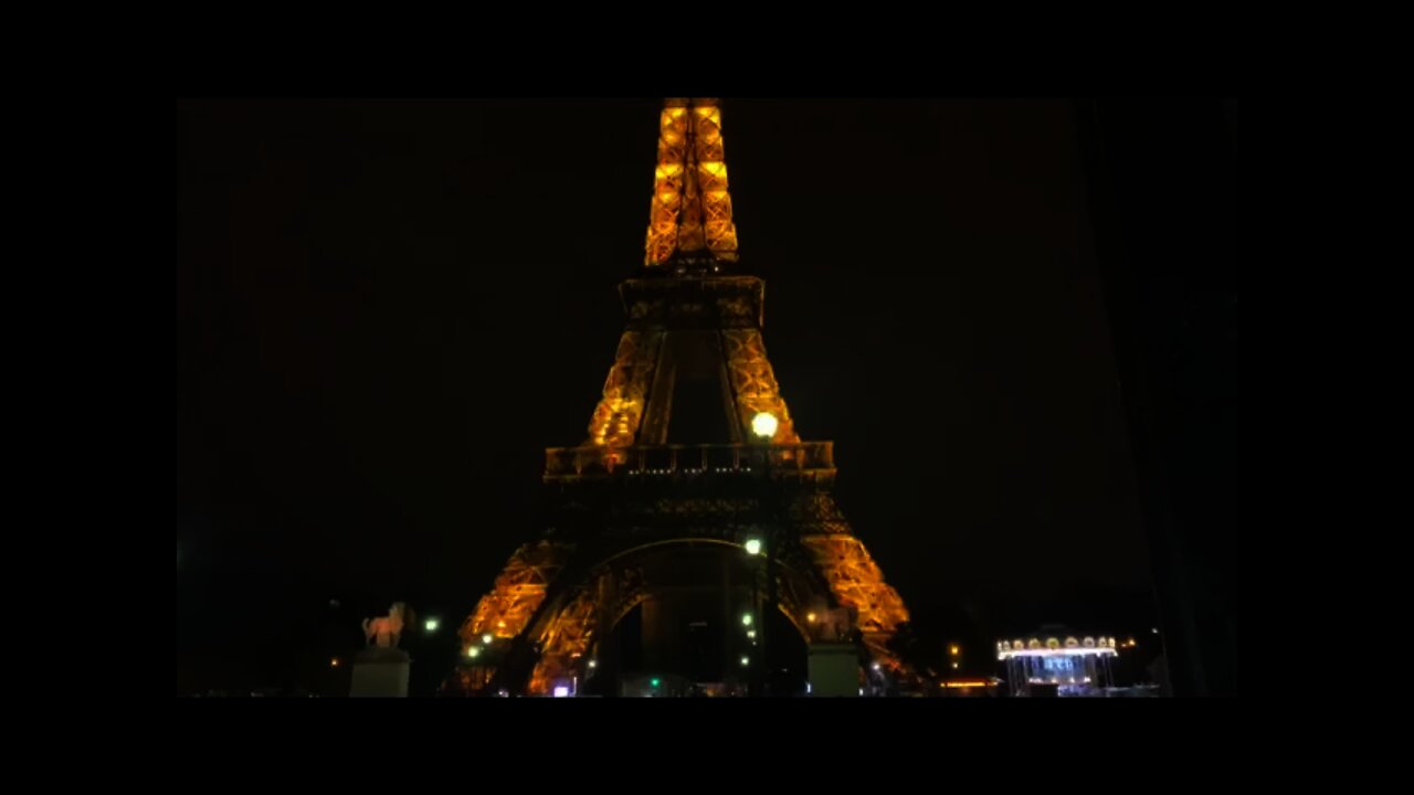
[[[1236,102],[1082,100],[1116,340],[1174,695],[1236,695]]]

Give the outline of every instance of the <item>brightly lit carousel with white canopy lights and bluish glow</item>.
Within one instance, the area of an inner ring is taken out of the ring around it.
[[[1114,685],[1116,656],[1114,638],[1103,635],[1042,631],[997,642],[1012,696],[1100,696]]]

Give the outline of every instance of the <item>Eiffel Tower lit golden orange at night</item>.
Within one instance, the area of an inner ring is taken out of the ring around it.
[[[865,675],[906,675],[888,639],[908,611],[836,506],[831,443],[800,439],[766,358],[718,102],[669,99],[659,124],[646,256],[619,287],[604,396],[583,444],[546,450],[550,528],[464,622],[458,680],[549,695],[609,676],[635,610],[652,671],[682,673],[684,627],[714,624],[720,665],[699,678],[764,682],[756,652],[782,632],[854,642]]]

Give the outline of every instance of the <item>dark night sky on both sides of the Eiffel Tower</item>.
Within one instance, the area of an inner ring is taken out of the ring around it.
[[[659,105],[182,102],[185,576],[469,608],[585,437]],[[1069,102],[723,120],[783,395],[905,600],[1143,593]]]

